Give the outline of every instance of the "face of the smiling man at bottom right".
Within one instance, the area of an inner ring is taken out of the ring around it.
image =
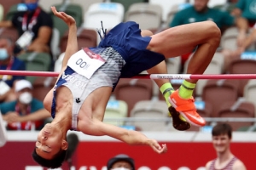
[[[231,139],[227,134],[212,136],[213,147],[220,154],[230,149],[230,141]]]

